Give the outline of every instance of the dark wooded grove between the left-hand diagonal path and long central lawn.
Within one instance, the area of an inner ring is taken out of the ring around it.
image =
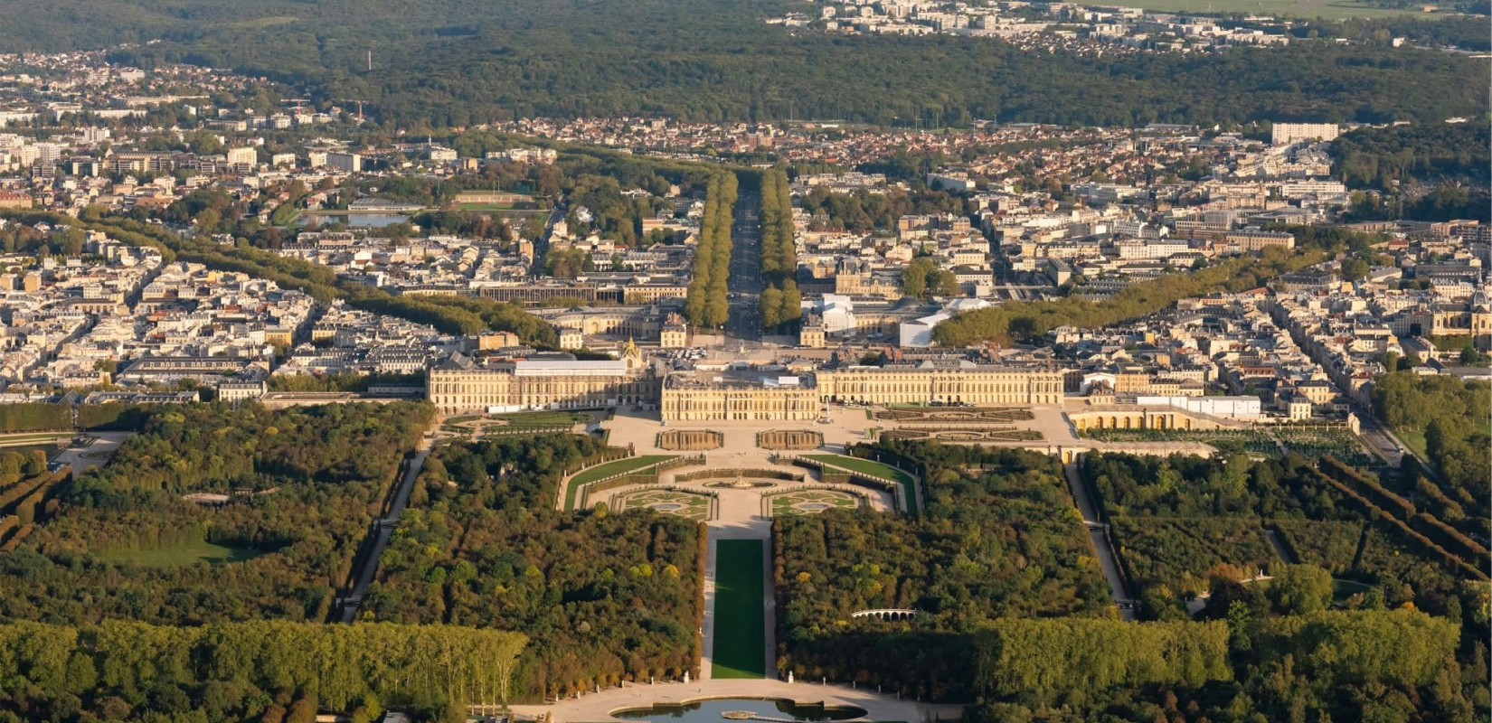
[[[576,435],[442,447],[379,561],[364,617],[524,632],[513,695],[525,701],[697,675],[703,525],[555,510],[565,470],[600,452]]]

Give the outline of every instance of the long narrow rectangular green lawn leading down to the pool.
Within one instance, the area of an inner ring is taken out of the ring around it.
[[[767,629],[761,540],[721,540],[715,558],[715,651],[710,675],[765,675]]]

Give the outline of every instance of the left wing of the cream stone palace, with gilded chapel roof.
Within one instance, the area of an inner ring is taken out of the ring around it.
[[[548,353],[482,362],[455,353],[425,376],[430,401],[446,414],[513,407],[604,408],[658,400],[658,377],[633,343],[621,359],[604,361]]]

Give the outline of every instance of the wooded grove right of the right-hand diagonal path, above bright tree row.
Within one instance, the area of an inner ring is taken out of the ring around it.
[[[1089,455],[1083,477],[1113,525],[1147,617],[1183,619],[1183,598],[1237,592],[1237,580],[1273,574],[1282,561],[1270,534],[1300,562],[1355,583],[1344,587],[1355,590],[1343,601],[1349,607],[1408,602],[1444,614],[1468,577],[1416,532],[1429,528],[1413,520],[1413,510],[1373,513],[1297,455],[1259,462],[1243,455]],[[1358,486],[1383,499],[1392,495],[1379,490],[1371,480]],[[1395,513],[1404,525],[1394,522]],[[1225,605],[1209,602],[1207,610]]]

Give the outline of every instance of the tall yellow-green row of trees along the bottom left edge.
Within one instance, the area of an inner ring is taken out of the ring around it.
[[[466,720],[497,702],[525,638],[461,626],[269,620],[192,628],[0,625],[0,722],[309,723],[388,707]]]

